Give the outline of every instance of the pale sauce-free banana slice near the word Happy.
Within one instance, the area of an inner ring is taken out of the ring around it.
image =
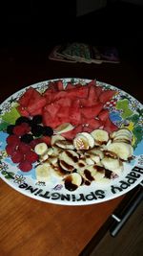
[[[110,170],[110,171],[114,171],[118,168],[120,168],[120,166],[123,167],[123,164],[121,164],[121,162],[118,159],[113,159],[112,157],[104,157],[101,160],[101,163],[103,164],[103,166]]]

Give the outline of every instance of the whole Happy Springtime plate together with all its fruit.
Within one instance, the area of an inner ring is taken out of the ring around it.
[[[86,205],[143,179],[143,106],[101,81],[31,84],[0,105],[0,177],[41,201]]]

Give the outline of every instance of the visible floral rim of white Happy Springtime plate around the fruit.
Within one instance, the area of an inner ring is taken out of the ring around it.
[[[56,81],[56,80],[55,80]],[[90,80],[63,79],[66,86],[68,81],[80,82],[83,85]],[[44,92],[50,81],[42,81],[32,84],[39,92]],[[62,179],[52,177],[49,182],[38,182],[35,177],[35,164],[30,172],[24,173],[13,164],[6,153],[6,128],[13,124],[17,117],[17,100],[29,87],[26,87],[11,95],[0,105],[0,176],[13,189],[41,201],[63,205],[86,205],[104,202],[117,198],[132,190],[143,179],[143,106],[128,93],[110,84],[97,81],[97,85],[105,89],[115,89],[118,93],[106,104],[110,110],[110,118],[118,128],[129,128],[133,132],[133,160],[124,162],[122,175],[110,180],[110,182],[95,182],[90,186],[81,185],[75,191],[65,189]]]

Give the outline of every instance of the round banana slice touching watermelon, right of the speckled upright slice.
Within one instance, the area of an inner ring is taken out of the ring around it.
[[[104,129],[94,129],[92,131],[92,137],[94,138],[95,145],[102,145],[108,142],[109,140],[109,133]]]

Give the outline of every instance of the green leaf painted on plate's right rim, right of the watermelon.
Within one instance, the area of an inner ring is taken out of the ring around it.
[[[133,115],[133,111],[129,107],[129,101],[127,99],[118,101],[116,103],[116,109],[122,110],[121,117],[123,119],[126,119],[127,117],[130,117]]]

